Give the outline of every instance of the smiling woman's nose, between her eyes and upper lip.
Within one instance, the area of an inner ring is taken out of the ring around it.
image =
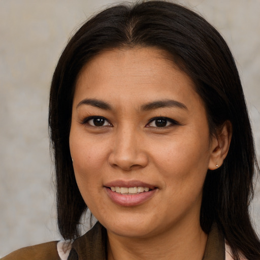
[[[124,171],[147,166],[148,155],[144,149],[142,137],[137,131],[125,129],[115,133],[109,164]]]

